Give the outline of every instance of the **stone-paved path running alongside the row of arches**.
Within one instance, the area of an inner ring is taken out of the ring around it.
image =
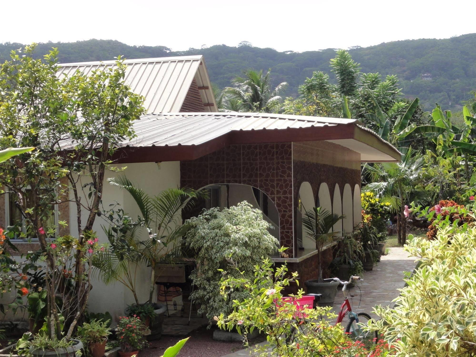
[[[370,316],[376,318],[372,313],[372,307],[375,305],[392,305],[392,300],[398,296],[397,288],[403,288],[404,282],[403,272],[412,271],[415,268],[415,258],[408,257],[408,253],[403,248],[390,248],[387,256],[382,256],[380,262],[371,271],[364,272],[364,281],[359,282],[362,291],[362,301],[358,307],[360,292],[357,287],[351,288],[351,294],[355,295],[351,301],[354,311],[364,311]],[[337,291],[336,303],[334,304],[334,312],[337,314],[340,305],[343,302],[342,290]],[[358,308],[357,308],[358,307]],[[343,326],[347,325],[347,318],[342,322]],[[242,357],[249,356],[249,349],[225,355],[223,357]]]

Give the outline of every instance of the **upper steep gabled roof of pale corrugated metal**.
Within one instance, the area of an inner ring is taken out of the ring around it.
[[[194,78],[199,87],[208,87],[200,90],[203,103],[214,104],[206,110],[218,109],[203,56],[147,58],[125,60],[124,63],[128,64],[124,80],[134,93],[144,96],[146,113],[180,111]],[[60,66],[59,76],[72,75],[77,70],[88,75],[94,69],[115,66],[115,61],[65,63]]]

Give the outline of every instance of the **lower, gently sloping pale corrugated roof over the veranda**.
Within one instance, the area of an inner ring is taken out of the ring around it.
[[[149,114],[134,122],[137,138],[123,146],[199,145],[233,130],[287,129],[346,125],[355,119],[266,113]]]

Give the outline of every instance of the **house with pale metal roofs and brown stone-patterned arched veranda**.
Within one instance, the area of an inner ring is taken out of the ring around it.
[[[314,242],[300,223],[304,209],[322,206],[344,214],[334,229],[351,231],[361,219],[361,162],[400,159],[396,148],[355,119],[218,112],[202,56],[126,63],[125,81],[145,97],[146,114],[134,123],[137,137],[122,142],[114,156],[118,165],[127,167],[124,174],[150,194],[177,186],[208,189],[203,208],[247,200],[273,224],[271,233],[289,248],[288,262],[303,281],[315,278],[317,270]],[[113,65],[64,64],[61,73]],[[113,176],[110,172],[107,178]],[[5,196],[0,225],[9,224]],[[131,217],[139,215],[133,199],[117,187],[105,185],[102,200],[105,207],[117,201]],[[73,205],[66,203],[55,218],[67,220],[71,234],[77,232],[74,214]],[[99,234],[100,226],[97,219]],[[24,250],[35,248],[35,243],[23,244]],[[148,279],[149,269],[143,267],[137,281],[143,297],[148,296]],[[121,285],[98,281],[89,309],[118,316],[132,302]]]

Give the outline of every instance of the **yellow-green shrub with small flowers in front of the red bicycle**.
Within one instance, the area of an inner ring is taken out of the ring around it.
[[[283,251],[281,248],[280,252]],[[331,325],[329,321],[337,317],[331,307],[298,307],[294,298],[302,297],[302,289],[297,295],[283,299],[283,289],[297,282],[297,273],[288,274],[286,264],[274,270],[272,267],[273,263],[266,258],[261,266],[255,267],[253,278],[227,277],[226,272],[222,272],[221,292],[225,299],[229,290],[236,288],[247,290],[249,297],[234,300],[233,312],[228,317],[223,314],[215,317],[218,327],[236,328],[244,336],[246,345],[248,334],[255,329],[266,334],[268,342],[254,347],[254,352],[261,357],[387,356],[383,344],[367,348],[361,342],[350,340],[340,324]]]

